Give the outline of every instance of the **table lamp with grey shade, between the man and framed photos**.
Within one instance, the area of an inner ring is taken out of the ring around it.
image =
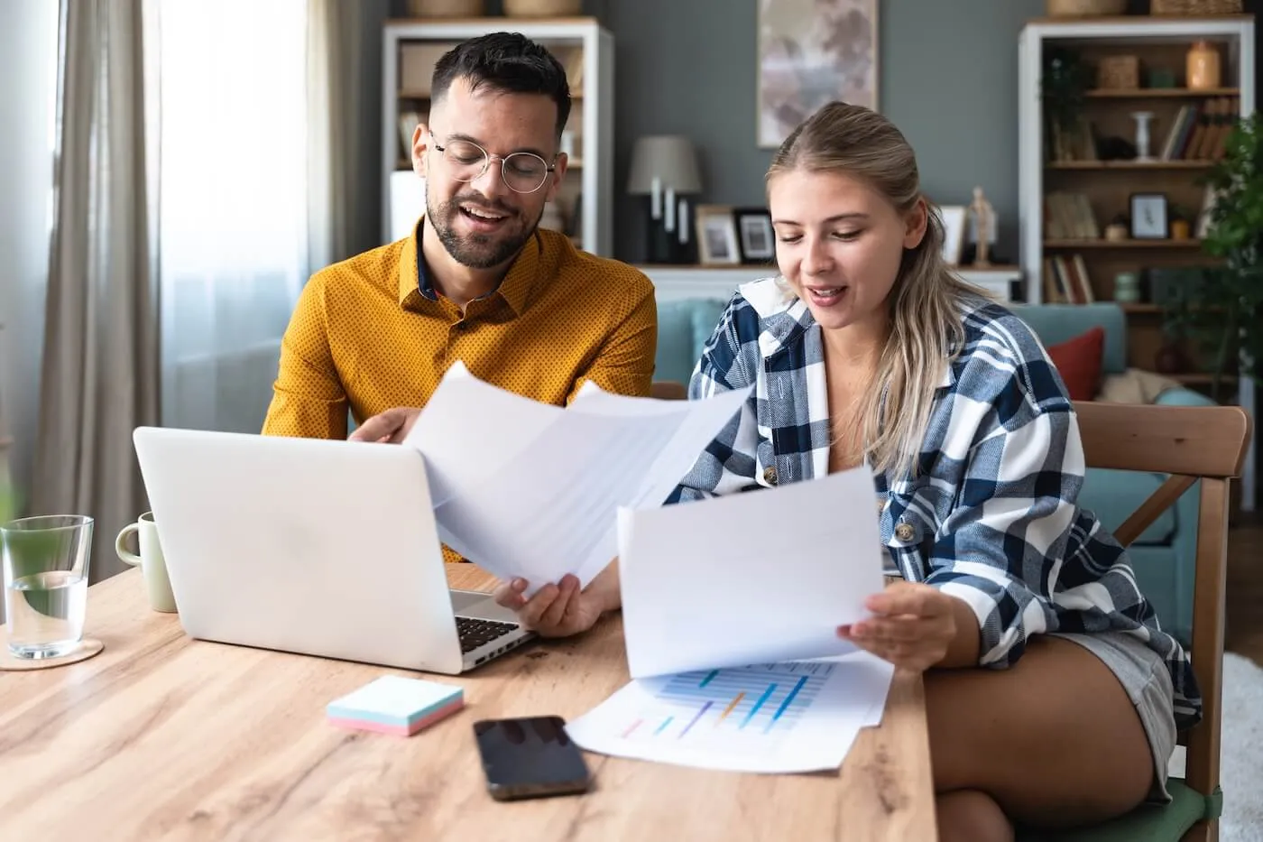
[[[686,195],[702,191],[693,142],[678,134],[638,138],[632,149],[628,193],[648,196],[649,263],[679,263],[692,249]]]

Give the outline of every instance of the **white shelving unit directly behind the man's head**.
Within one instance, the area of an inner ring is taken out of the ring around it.
[[[528,20],[519,18],[472,18],[461,20],[392,20],[384,29],[383,49],[383,241],[399,238],[407,220],[414,223],[424,211],[421,178],[403,154],[400,114],[428,113],[428,90],[403,86],[404,51],[428,46],[437,59],[445,46],[490,32],[518,32],[557,54],[572,80],[572,107],[567,130],[576,138],[577,157],[562,183],[557,205],[570,226],[576,198],[578,220],[573,239],[578,248],[611,257],[614,252],[614,38],[592,18]],[[576,53],[577,51],[577,53]],[[573,61],[573,63],[572,63]],[[431,64],[432,67],[432,64]],[[428,82],[427,82],[428,88]],[[577,158],[577,159],[576,159]],[[398,173],[398,174],[397,174]]]

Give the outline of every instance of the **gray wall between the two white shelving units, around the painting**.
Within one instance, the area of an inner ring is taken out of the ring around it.
[[[702,201],[764,205],[755,145],[758,0],[589,0],[615,42],[615,254],[644,255],[642,207],[621,192],[642,134],[698,145]],[[981,185],[1017,258],[1017,38],[1045,0],[882,0],[880,110],[903,130],[936,201]],[[952,32],[955,30],[955,32]],[[947,33],[951,32],[951,35]]]

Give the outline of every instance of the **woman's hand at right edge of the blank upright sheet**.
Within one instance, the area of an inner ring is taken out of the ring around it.
[[[926,670],[943,660],[956,637],[954,602],[931,585],[894,582],[864,602],[871,617],[839,626],[837,636],[895,666]]]

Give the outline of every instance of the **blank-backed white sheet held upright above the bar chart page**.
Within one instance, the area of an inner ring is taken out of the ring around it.
[[[866,467],[772,489],[619,511],[633,678],[851,651],[839,625],[884,588]]]

